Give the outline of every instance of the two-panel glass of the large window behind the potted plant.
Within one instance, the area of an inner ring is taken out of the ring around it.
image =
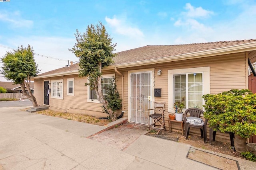
[[[185,108],[203,108],[203,73],[174,74],[174,102],[185,97]]]

